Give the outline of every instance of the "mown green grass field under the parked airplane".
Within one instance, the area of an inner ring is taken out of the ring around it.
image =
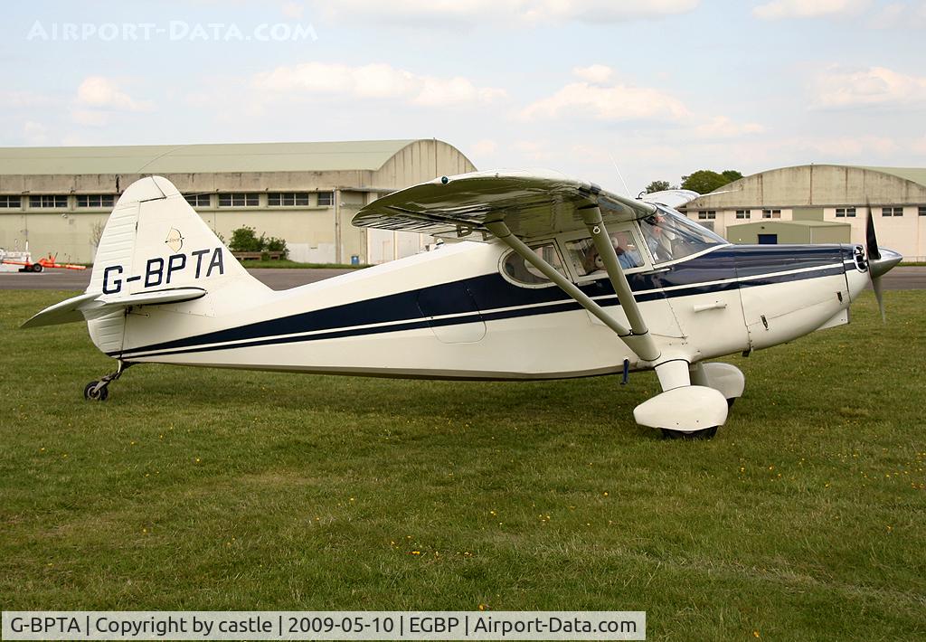
[[[0,308],[4,610],[626,610],[667,640],[926,637],[926,293],[730,359],[709,442],[652,373],[443,383],[139,366]]]

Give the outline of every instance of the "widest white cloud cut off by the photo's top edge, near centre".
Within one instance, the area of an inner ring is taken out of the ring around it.
[[[563,20],[624,22],[685,13],[700,0],[341,0],[318,6],[328,19],[455,25],[499,20],[556,23]]]

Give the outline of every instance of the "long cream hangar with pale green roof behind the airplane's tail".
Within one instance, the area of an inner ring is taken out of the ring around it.
[[[430,237],[358,229],[350,220],[383,194],[474,171],[433,139],[343,143],[0,148],[0,247],[89,263],[119,194],[156,174],[177,186],[225,239],[249,225],[286,240],[290,258],[381,263]]]

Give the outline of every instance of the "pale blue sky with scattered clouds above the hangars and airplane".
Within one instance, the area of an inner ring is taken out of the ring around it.
[[[0,146],[438,138],[618,193],[926,167],[926,0],[5,3]]]

